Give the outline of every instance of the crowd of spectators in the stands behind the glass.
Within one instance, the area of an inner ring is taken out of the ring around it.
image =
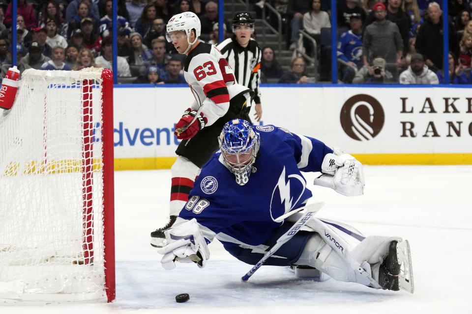
[[[449,0],[447,17],[442,14],[442,1],[337,1],[339,80],[367,84],[444,83],[442,20],[447,18],[449,81],[471,84],[472,0],[469,1]],[[266,10],[267,3],[281,14],[287,49],[294,51],[290,69],[284,71],[276,52],[264,47],[263,82],[269,79],[301,84],[330,80],[330,0],[250,2],[259,13]],[[112,3],[112,0],[18,0],[16,51],[20,72],[29,68],[112,69]],[[217,1],[118,0],[117,76],[135,78],[135,83],[185,83],[182,75],[185,55],[178,54],[166,41],[165,26],[174,14],[186,11],[199,16],[200,39],[217,44]],[[269,11],[266,18],[274,23]],[[11,2],[0,0],[2,78],[12,63],[12,19]],[[223,30],[224,38],[232,36],[229,21],[225,21]],[[300,30],[312,40],[300,35]],[[311,70],[313,67],[315,71]]]

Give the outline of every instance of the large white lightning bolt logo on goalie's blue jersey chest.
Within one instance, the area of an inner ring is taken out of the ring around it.
[[[270,217],[276,218],[294,209],[306,188],[305,179],[298,175],[285,176],[285,167],[279,176],[279,180],[272,191],[270,200]],[[282,204],[284,204],[282,206]]]

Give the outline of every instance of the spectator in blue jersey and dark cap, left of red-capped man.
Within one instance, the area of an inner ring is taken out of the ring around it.
[[[360,14],[351,15],[351,29],[339,38],[337,58],[341,60],[341,80],[350,84],[362,67],[362,20]]]

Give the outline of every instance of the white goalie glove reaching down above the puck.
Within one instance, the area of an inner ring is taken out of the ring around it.
[[[161,264],[167,270],[176,268],[175,262],[194,262],[203,268],[210,257],[207,241],[197,220],[187,220],[165,232],[167,245],[157,250],[163,254]]]

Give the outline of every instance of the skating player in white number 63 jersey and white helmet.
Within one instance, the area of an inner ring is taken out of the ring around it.
[[[155,247],[165,244],[164,231],[187,202],[200,168],[218,149],[221,128],[231,119],[247,116],[254,95],[237,84],[233,70],[215,46],[199,41],[200,30],[200,20],[192,12],[176,14],[167,23],[167,40],[178,53],[187,55],[183,74],[195,101],[176,124],[175,135],[182,141],[171,168],[170,219],[151,233]]]

